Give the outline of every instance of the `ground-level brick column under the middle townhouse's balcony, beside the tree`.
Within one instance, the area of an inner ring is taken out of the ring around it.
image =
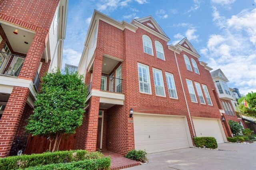
[[[100,97],[92,96],[90,100],[90,109],[86,117],[87,128],[85,138],[85,149],[89,151],[96,151],[99,109]]]

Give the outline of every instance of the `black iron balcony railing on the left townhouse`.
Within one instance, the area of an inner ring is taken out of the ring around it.
[[[0,74],[18,76],[25,57],[0,51]]]

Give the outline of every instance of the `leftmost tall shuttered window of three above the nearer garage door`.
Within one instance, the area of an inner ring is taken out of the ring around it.
[[[139,74],[140,92],[151,93],[148,66],[138,63],[138,74]]]

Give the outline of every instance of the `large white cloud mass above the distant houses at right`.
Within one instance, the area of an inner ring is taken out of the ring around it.
[[[239,88],[243,94],[256,92],[256,9],[243,10],[228,19],[216,12],[215,8],[213,20],[221,26],[220,33],[210,35],[200,53],[209,66],[222,69],[230,87]]]

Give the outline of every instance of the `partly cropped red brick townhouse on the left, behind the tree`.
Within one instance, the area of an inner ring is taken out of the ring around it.
[[[32,113],[40,78],[62,64],[68,0],[0,1],[0,157]]]

